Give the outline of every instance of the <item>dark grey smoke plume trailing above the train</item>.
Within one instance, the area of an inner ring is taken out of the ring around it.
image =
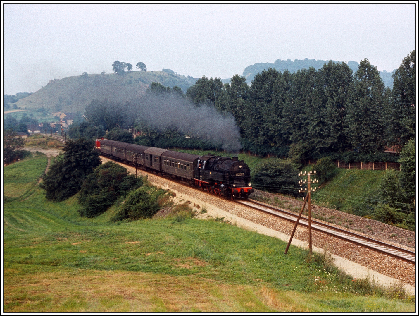
[[[195,106],[184,98],[146,95],[129,106],[129,115],[144,119],[160,130],[176,126],[185,134],[221,143],[228,151],[241,148],[239,128],[231,114],[221,114],[214,106]]]

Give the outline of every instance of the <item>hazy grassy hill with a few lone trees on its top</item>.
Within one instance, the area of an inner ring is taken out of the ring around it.
[[[104,74],[66,77],[49,83],[26,98],[16,101],[21,109],[44,108],[48,112],[83,112],[93,99],[126,102],[142,96],[154,81],[165,86],[177,85],[184,92],[197,78],[163,71],[130,71],[124,75]]]

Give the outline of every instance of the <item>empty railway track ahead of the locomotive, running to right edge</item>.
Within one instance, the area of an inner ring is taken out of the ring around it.
[[[236,200],[236,202],[242,205],[246,205],[248,207],[252,207],[256,210],[272,214],[276,217],[289,220],[294,223],[298,218],[297,214],[287,212],[285,210],[281,210],[276,207],[268,206],[268,205],[265,205],[265,204],[262,204],[253,200]],[[308,227],[308,218],[301,216],[299,225]],[[416,254],[413,251],[403,249],[397,246],[393,246],[391,244],[384,243],[382,241],[378,241],[378,240],[375,240],[366,236],[362,236],[357,233],[345,231],[344,229],[337,228],[337,227],[334,227],[325,223],[321,223],[316,220],[311,220],[311,229],[320,231],[322,233],[328,234],[335,238],[342,239],[344,241],[355,243],[358,246],[369,248],[374,251],[378,251],[382,254],[387,254],[388,256],[393,256],[395,258],[416,264]]]

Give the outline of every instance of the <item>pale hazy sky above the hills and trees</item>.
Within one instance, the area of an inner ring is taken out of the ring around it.
[[[229,78],[256,62],[368,58],[392,71],[415,49],[415,4],[3,4],[4,93],[50,79],[147,70]],[[135,68],[134,68],[135,69]]]

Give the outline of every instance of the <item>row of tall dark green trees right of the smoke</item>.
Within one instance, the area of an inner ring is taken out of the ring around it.
[[[269,68],[250,87],[239,75],[224,85],[203,76],[186,96],[233,114],[243,149],[254,153],[297,161],[330,155],[359,161],[374,154],[391,160],[384,148],[402,148],[415,136],[415,64],[413,51],[394,73],[393,90],[365,59],[355,73],[332,61],[294,73]]]

